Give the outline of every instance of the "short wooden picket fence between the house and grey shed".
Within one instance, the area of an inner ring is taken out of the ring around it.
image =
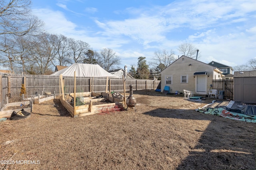
[[[233,100],[233,88],[234,88],[234,80],[212,80],[212,89],[217,89],[218,94],[220,91],[224,91],[224,99]]]

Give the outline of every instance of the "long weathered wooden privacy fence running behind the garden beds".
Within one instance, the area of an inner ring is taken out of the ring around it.
[[[6,104],[6,96],[19,97],[22,84],[26,88],[25,96],[32,96],[51,92],[60,94],[60,76],[8,74],[0,73],[0,108]],[[63,77],[64,92],[74,92],[74,77]],[[134,86],[133,90],[156,89],[160,80],[127,79],[125,88]],[[123,79],[119,78],[93,78],[76,77],[76,92],[112,92],[124,90]]]

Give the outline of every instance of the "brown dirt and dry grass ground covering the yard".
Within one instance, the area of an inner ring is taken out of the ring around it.
[[[72,118],[54,99],[34,104],[29,118],[0,122],[0,160],[14,163],[0,169],[256,169],[255,123],[194,110],[213,99],[134,97],[136,111]]]

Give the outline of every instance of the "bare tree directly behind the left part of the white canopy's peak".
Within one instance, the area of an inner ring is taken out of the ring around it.
[[[89,49],[90,45],[81,40],[75,40],[73,38],[68,39],[69,51],[68,54],[72,61],[69,63],[83,63],[85,58],[85,53]],[[73,62],[74,61],[74,62]]]

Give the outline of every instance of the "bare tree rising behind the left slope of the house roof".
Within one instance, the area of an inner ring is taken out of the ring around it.
[[[172,50],[167,51],[166,49],[163,49],[162,51],[156,51],[151,60],[152,61],[149,64],[154,67],[154,70],[161,72],[164,68],[172,64],[176,58]]]

